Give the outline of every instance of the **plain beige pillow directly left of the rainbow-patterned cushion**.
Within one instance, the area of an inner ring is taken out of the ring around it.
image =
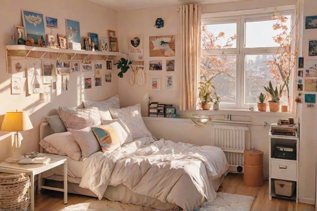
[[[89,157],[91,154],[100,151],[100,144],[97,141],[91,128],[81,130],[70,130],[81,149],[81,159]]]

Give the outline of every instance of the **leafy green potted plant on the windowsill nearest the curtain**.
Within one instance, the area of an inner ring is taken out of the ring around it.
[[[211,78],[207,81],[199,82],[199,98],[201,100],[201,105],[203,110],[209,110],[211,106],[211,96],[212,91],[211,88],[215,88],[215,86],[211,83]]]

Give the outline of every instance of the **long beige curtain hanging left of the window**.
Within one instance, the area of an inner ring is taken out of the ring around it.
[[[181,94],[180,110],[196,110],[200,47],[201,47],[201,8],[198,4],[183,5],[180,8],[181,20]]]

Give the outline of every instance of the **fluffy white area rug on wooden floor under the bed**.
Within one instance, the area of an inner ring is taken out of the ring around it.
[[[196,211],[250,211],[254,198],[250,196],[242,196],[236,194],[228,194],[217,192],[216,199],[204,205]],[[65,207],[63,211],[159,211],[152,208],[126,205],[120,202],[111,202],[106,199],[96,200],[90,199],[84,203],[70,205]],[[168,210],[175,211],[175,210]]]

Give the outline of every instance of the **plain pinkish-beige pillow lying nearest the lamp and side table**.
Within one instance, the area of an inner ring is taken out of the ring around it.
[[[49,153],[67,155],[74,160],[81,159],[81,150],[70,132],[51,134],[40,141]]]

